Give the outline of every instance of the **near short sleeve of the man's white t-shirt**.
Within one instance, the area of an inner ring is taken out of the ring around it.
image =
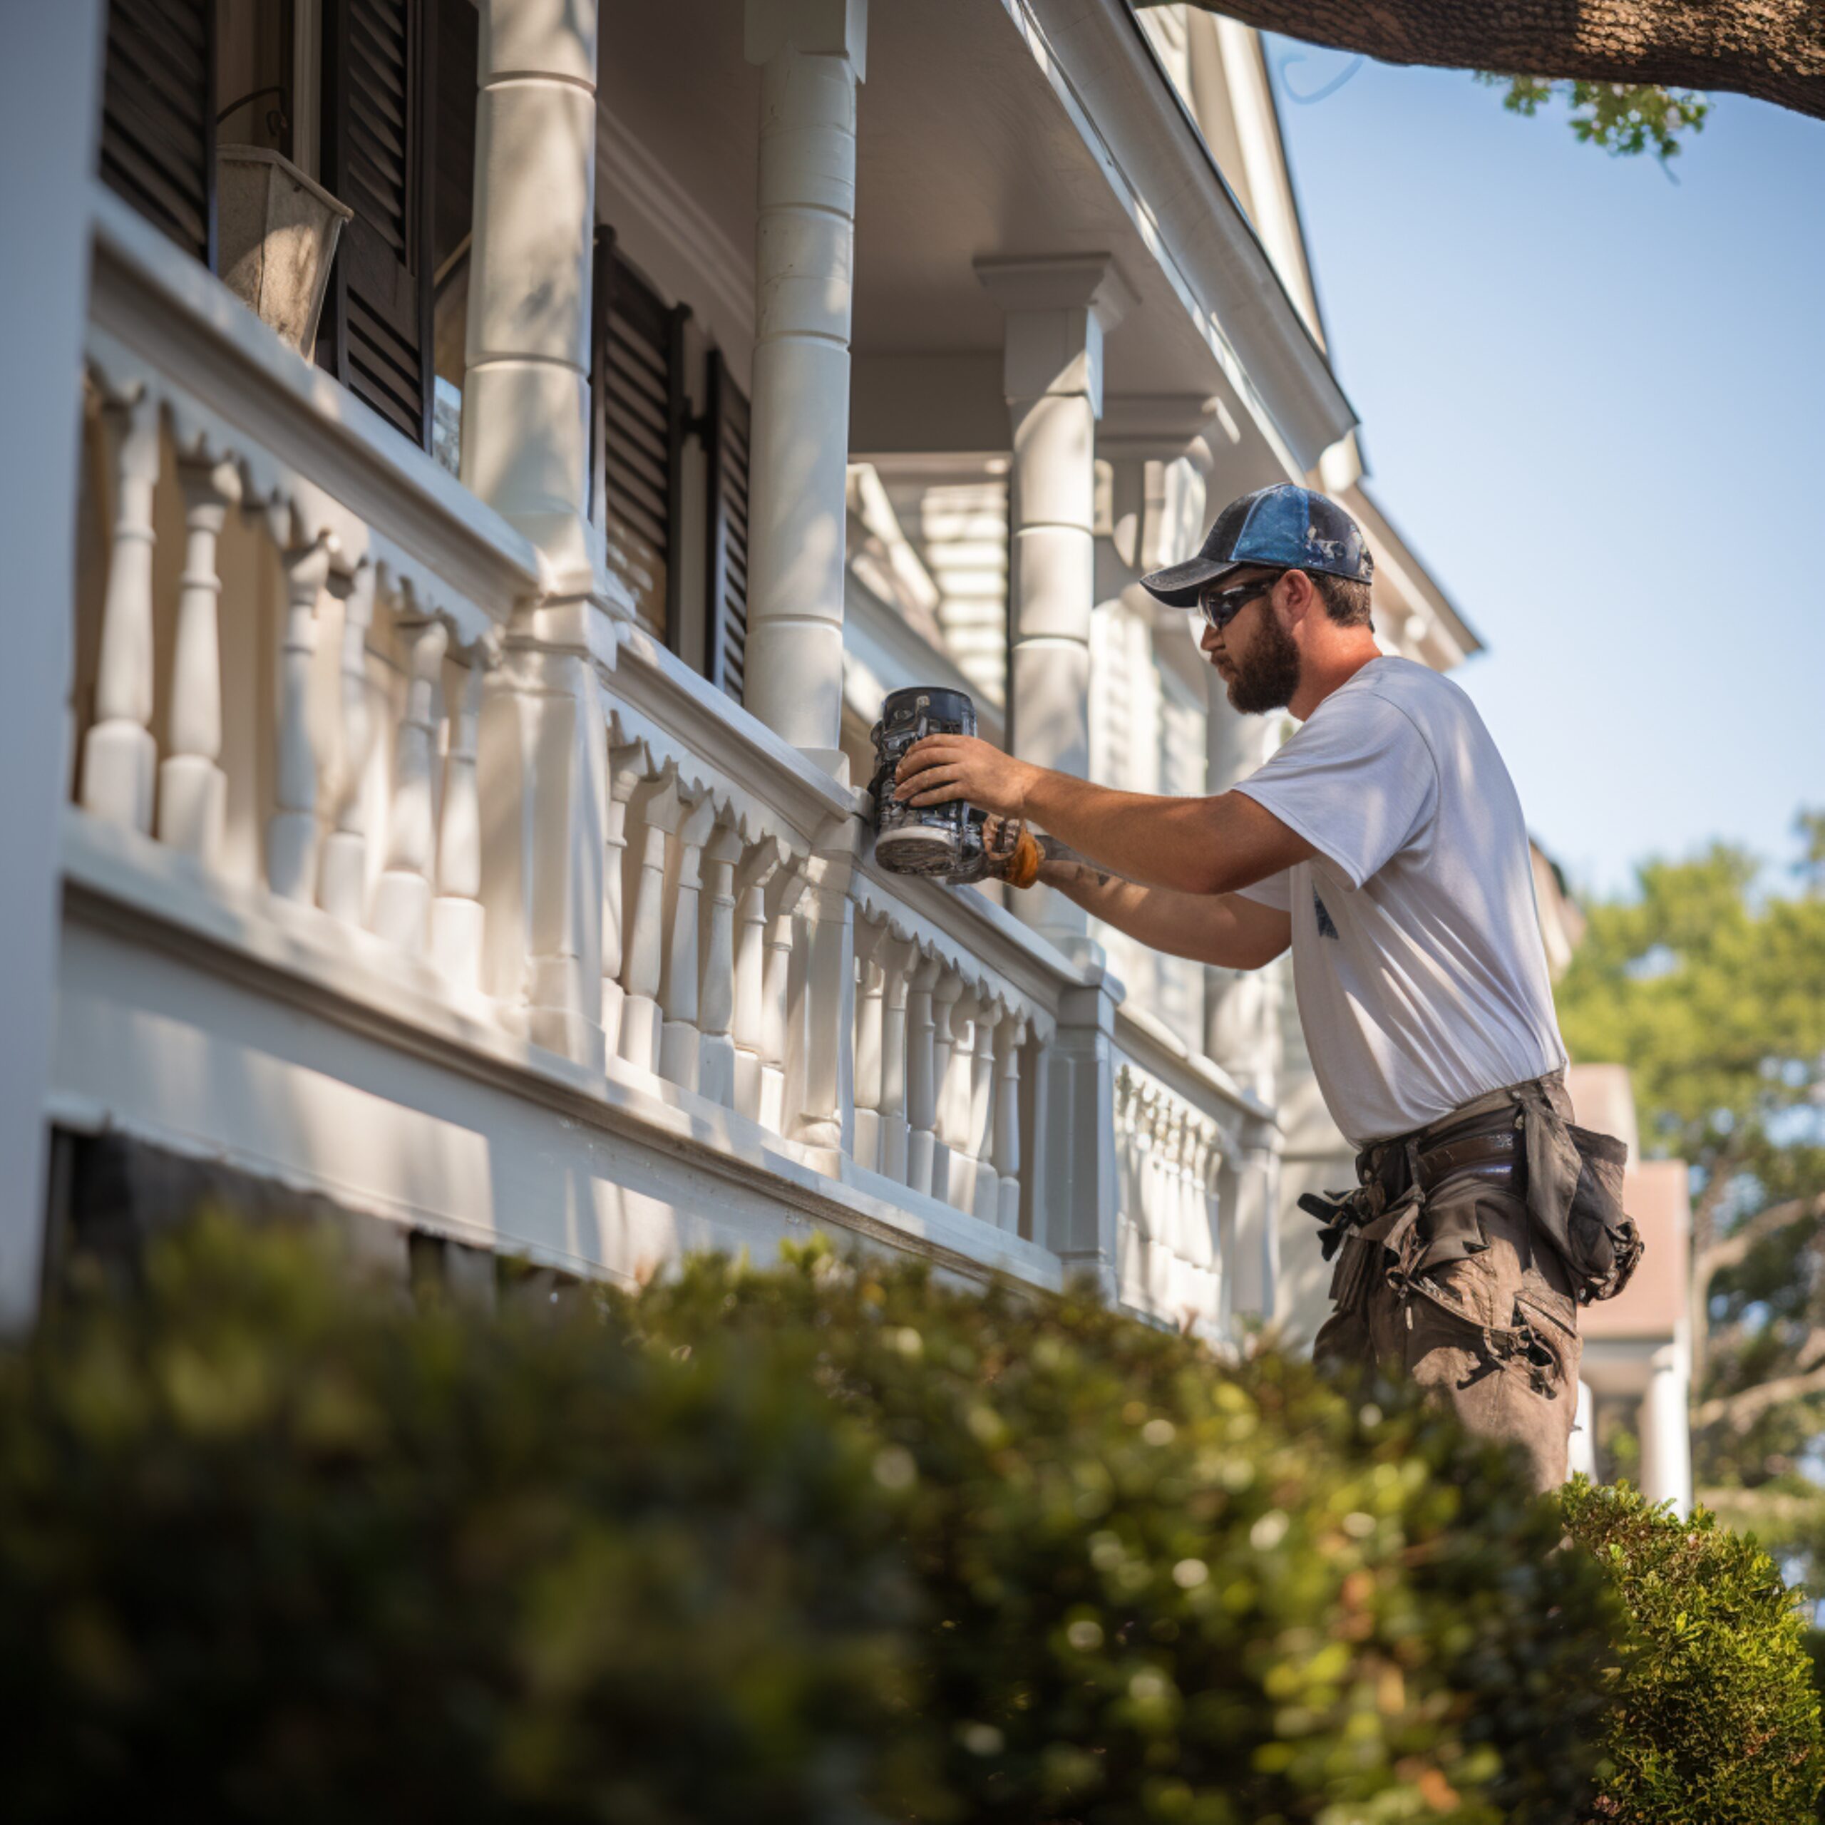
[[[1425,830],[1438,805],[1438,766],[1405,712],[1345,688],[1236,790],[1361,887]]]

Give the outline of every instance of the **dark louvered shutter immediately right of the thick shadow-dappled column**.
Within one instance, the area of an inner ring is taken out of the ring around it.
[[[679,644],[677,533],[684,323],[597,228],[591,292],[593,511],[641,624]]]

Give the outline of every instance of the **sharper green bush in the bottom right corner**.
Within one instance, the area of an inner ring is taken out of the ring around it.
[[[1745,1535],[1577,1476],[1566,1528],[1632,1622],[1615,1672],[1604,1825],[1798,1825],[1825,1779],[1799,1593]]]

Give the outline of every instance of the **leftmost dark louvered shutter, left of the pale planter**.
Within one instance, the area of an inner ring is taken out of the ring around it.
[[[215,0],[110,0],[102,181],[215,265]]]

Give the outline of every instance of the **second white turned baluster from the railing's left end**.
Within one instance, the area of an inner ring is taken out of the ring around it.
[[[241,498],[241,476],[234,464],[186,458],[177,482],[184,491],[184,575],[172,653],[172,752],[159,763],[159,841],[214,867],[228,808],[215,553],[228,509]]]

